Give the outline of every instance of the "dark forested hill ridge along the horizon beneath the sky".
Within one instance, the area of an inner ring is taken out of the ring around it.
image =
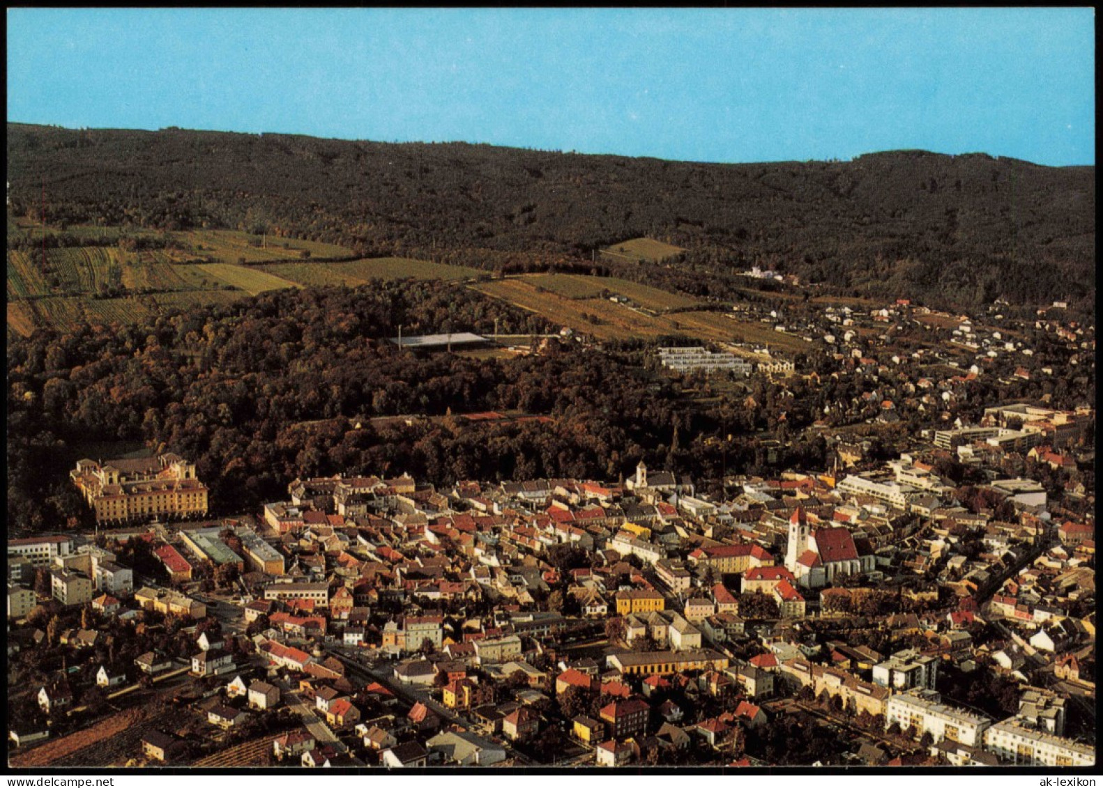
[[[647,236],[684,247],[698,280],[760,265],[929,302],[1094,300],[1094,168],[923,151],[704,164],[20,123],[8,166],[15,213],[38,217],[44,186],[51,223],[233,227],[483,268]]]

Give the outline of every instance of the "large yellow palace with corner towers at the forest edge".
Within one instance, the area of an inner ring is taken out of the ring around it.
[[[195,465],[175,454],[146,460],[77,461],[69,478],[96,514],[96,521],[202,517],[207,488]]]

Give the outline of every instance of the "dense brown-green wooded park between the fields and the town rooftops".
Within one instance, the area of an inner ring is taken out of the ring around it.
[[[377,282],[272,291],[149,326],[13,337],[9,528],[64,527],[72,512],[87,511],[67,463],[97,442],[142,442],[194,458],[216,511],[228,514],[282,499],[296,476],[339,472],[409,472],[436,484],[617,478],[640,460],[713,478],[725,466],[760,472],[756,433],[777,427],[783,411],[794,429],[815,418],[807,391],[796,390],[807,404],[794,407],[781,385],[764,380],[751,384],[762,403],[754,410],[696,408],[642,364],[639,343],[595,349],[553,339],[538,354],[482,359],[416,355],[385,339],[399,322],[411,332],[452,323],[488,331],[495,320],[503,332],[546,327],[457,284]],[[549,421],[460,421],[492,409]],[[397,414],[429,418],[379,420]],[[721,420],[737,435],[722,454],[707,440]],[[808,439],[774,461],[822,466],[824,458],[823,440]]]

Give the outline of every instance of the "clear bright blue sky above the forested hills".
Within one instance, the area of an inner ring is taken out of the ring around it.
[[[9,9],[8,119],[1094,164],[1094,10]]]

